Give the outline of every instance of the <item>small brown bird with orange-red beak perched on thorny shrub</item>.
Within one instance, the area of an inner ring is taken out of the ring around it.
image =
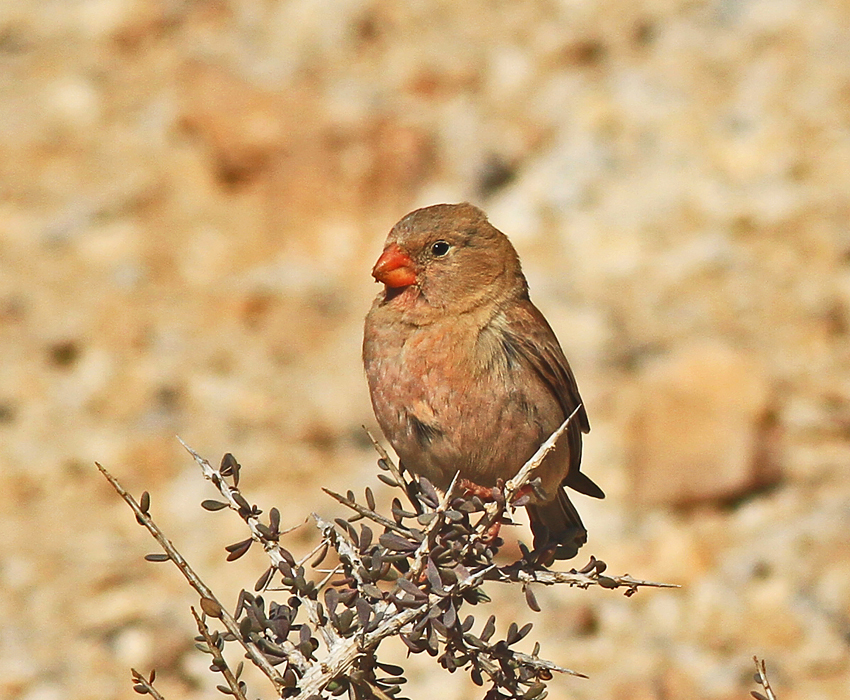
[[[384,286],[366,315],[363,364],[401,464],[444,490],[455,474],[492,487],[576,411],[526,505],[534,552],[576,556],[587,530],[565,488],[605,496],[580,470],[590,422],[508,237],[467,202],[417,209],[390,230],[372,276]]]

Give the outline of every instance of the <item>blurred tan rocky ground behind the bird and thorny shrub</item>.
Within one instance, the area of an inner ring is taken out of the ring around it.
[[[401,216],[462,200],[587,405],[608,498],[577,497],[577,561],[682,585],[540,590],[540,615],[496,590],[590,676],[550,697],[740,700],[753,654],[782,700],[848,696],[842,0],[2,3],[0,695],[135,697],[134,666],[220,697],[195,596],[93,462],[232,605],[265,558],[224,563],[243,529],[175,435],[284,525],[377,487],[369,271]],[[409,669],[413,698],[481,695]]]

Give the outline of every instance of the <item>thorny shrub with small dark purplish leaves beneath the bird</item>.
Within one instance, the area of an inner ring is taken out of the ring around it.
[[[514,499],[525,485],[533,486],[534,470],[572,418],[513,479],[497,485],[494,502],[486,504],[477,495],[459,495],[461,489],[456,489],[454,482],[440,494],[426,479],[415,479],[396,465],[373,440],[384,472],[379,479],[400,489],[410,510],[395,498],[389,514],[378,512],[369,488],[365,503],[352,491],[345,496],[328,491],[353,515],[329,522],[314,514],[321,541],[301,559],[280,544],[281,537],[294,528],[281,529],[279,511],[271,509],[266,522],[263,512],[240,492],[241,467],[232,455],[225,455],[216,469],[183,443],[223,498],[204,501],[202,506],[210,511],[229,508],[249,528],[248,539],[226,547],[228,559],[241,557],[257,542],[270,560],[254,593],[243,590],[232,615],[154,524],[149,495],[143,495],[140,505],[103,467],[98,468],[166,552],[149,558],[173,561],[201,596],[205,616],[196,615],[200,632],[196,641],[212,655],[212,669],[227,682],[227,686],[219,686],[221,692],[236,698],[247,696],[245,684],[239,680],[241,664],[232,672],[221,653],[226,644],[238,643],[281,698],[315,700],[348,691],[357,700],[399,700],[404,669],[378,658],[381,642],[398,637],[410,653],[427,653],[449,672],[463,669],[477,685],[489,684],[487,700],[531,700],[545,696],[546,683],[554,673],[583,674],[541,659],[539,644],[530,654],[515,649],[531,632],[531,624],[519,628],[511,623],[506,635],[497,638],[494,616],[483,626],[477,625],[472,615],[464,617],[464,606],[489,601],[484,584],[520,584],[529,607],[536,611],[540,607],[532,584],[622,588],[626,595],[642,587],[673,587],[628,575],[605,575],[605,563],[593,557],[581,570],[566,572],[542,567],[528,550],[508,566],[494,563],[501,540],[492,537],[491,526],[510,522]],[[359,529],[353,524],[357,521],[363,521]],[[307,571],[307,561],[313,556],[310,566],[317,572],[315,580]],[[319,568],[326,557],[331,558],[330,570]],[[281,593],[286,602],[267,602],[264,595],[269,593]],[[220,619],[224,631],[211,631],[206,625],[208,617]],[[148,681],[137,675],[138,692],[155,692],[152,678]]]

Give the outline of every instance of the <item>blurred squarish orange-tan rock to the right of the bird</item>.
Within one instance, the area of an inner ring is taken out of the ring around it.
[[[683,347],[640,372],[633,399],[626,440],[637,501],[725,501],[774,475],[762,450],[769,387],[745,353]]]

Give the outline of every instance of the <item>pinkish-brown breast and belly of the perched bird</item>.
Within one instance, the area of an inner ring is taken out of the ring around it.
[[[364,346],[375,415],[404,464],[438,486],[458,470],[481,484],[513,476],[557,426],[498,333],[462,319],[383,330]]]

